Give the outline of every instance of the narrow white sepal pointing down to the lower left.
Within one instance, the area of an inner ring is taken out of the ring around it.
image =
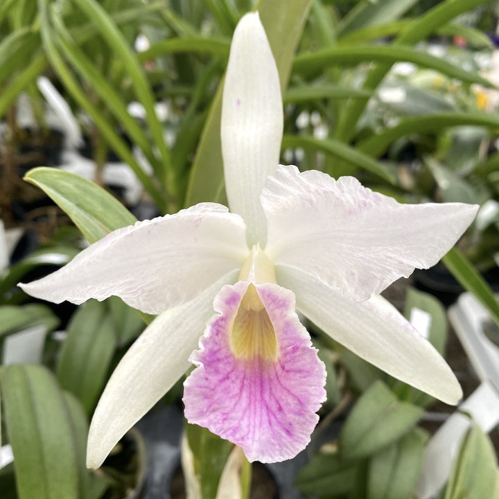
[[[189,368],[204,325],[213,315],[213,297],[231,272],[195,299],[158,315],[125,353],[104,389],[92,418],[87,466],[98,468],[125,435]]]

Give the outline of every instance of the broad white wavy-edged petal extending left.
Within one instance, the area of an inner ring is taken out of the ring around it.
[[[157,314],[240,269],[247,253],[240,216],[203,203],[113,231],[57,272],[19,286],[55,303],[116,295]]]

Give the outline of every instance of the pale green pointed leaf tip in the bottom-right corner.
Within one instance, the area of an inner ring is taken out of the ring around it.
[[[473,423],[450,472],[444,499],[499,498],[498,463],[491,441]]]

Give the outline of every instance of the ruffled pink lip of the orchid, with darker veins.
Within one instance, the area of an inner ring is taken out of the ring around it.
[[[326,399],[324,364],[299,322],[295,295],[274,283],[239,281],[220,290],[214,308],[190,358],[196,369],[184,383],[187,420],[242,447],[249,461],[294,457]],[[241,318],[247,312],[253,317]]]

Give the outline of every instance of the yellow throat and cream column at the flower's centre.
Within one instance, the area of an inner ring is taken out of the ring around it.
[[[274,265],[259,245],[252,248],[239,274],[239,281],[249,281],[232,324],[230,345],[236,358],[277,360],[279,349],[274,326],[265,310],[255,284],[275,283]]]

